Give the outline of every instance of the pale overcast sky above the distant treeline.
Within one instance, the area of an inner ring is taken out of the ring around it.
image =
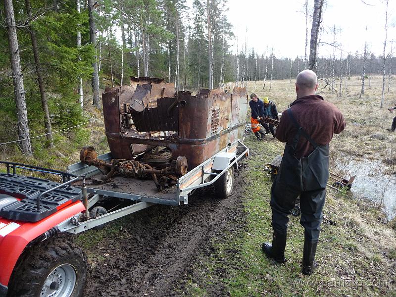
[[[304,0],[228,0],[228,18],[238,35],[239,50],[247,37],[247,48],[254,47],[259,54],[274,49],[274,54],[284,57],[304,55],[305,16],[302,12]],[[313,0],[308,5],[313,7]],[[381,0],[325,0],[321,42],[333,42],[333,25],[336,26],[336,42],[342,49],[354,53],[363,52],[364,42],[375,54],[381,54],[385,40],[385,4]],[[395,41],[396,48],[396,0],[389,0],[388,43]],[[367,33],[366,33],[367,25]],[[308,19],[309,36],[312,19]],[[247,34],[246,34],[247,30]],[[236,52],[236,40],[231,41]],[[322,45],[320,56],[329,56],[332,47]],[[344,54],[347,54],[344,52]]]

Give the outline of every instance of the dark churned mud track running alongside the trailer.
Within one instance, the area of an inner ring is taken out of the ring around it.
[[[123,236],[96,247],[105,259],[90,269],[85,296],[183,294],[194,264],[213,252],[211,239],[245,225],[245,166],[236,172],[230,198],[219,200],[208,187],[197,191],[186,206],[156,205],[124,220]],[[223,288],[213,289],[216,295]]]

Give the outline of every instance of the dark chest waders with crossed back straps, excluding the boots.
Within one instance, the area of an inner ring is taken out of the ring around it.
[[[287,110],[297,128],[292,144],[286,144],[278,174],[271,188],[272,226],[279,233],[287,232],[288,215],[300,196],[300,224],[309,241],[317,241],[329,178],[329,145],[318,146],[298,125],[291,109]],[[300,135],[313,146],[306,157],[297,159]]]

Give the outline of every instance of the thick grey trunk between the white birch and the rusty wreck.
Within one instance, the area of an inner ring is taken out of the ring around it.
[[[98,55],[97,55],[97,41],[96,41],[96,26],[95,26],[95,16],[93,9],[94,0],[88,0],[88,14],[90,18],[90,40],[91,44],[95,48],[94,62],[92,63],[92,68],[94,71],[92,72],[92,103],[93,105],[100,109],[100,101],[99,101],[99,72],[98,72]]]

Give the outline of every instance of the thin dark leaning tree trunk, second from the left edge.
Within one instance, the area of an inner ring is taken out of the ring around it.
[[[28,13],[29,21],[32,21],[32,7],[30,5],[30,0],[25,0],[25,5],[26,5],[26,11]],[[34,30],[34,27],[31,24],[29,25],[29,31],[30,31],[30,38],[32,40],[34,61],[36,64],[37,80],[39,82],[41,105],[42,105],[43,111],[44,111],[44,126],[46,127],[48,146],[50,148],[52,148],[53,147],[53,139],[52,139],[52,131],[51,131],[51,122],[49,119],[46,89],[45,89],[44,80],[43,80],[43,71],[42,71],[41,63],[40,63],[39,47],[37,45],[36,31]]]

